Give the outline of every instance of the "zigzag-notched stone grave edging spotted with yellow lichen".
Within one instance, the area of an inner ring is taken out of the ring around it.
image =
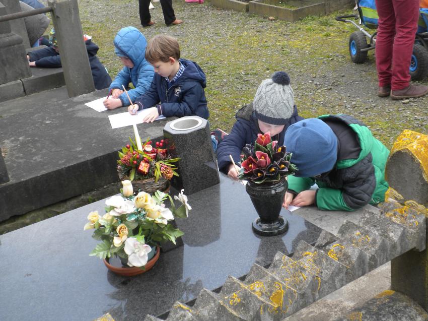
[[[300,241],[292,257],[277,252],[269,268],[253,264],[244,281],[229,276],[219,294],[203,289],[192,307],[176,302],[167,320],[281,320],[396,256],[422,249],[424,215],[392,207],[360,224],[345,221],[337,235],[324,231],[315,246]]]

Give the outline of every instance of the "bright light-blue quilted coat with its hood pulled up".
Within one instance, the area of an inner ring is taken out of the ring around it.
[[[132,83],[134,89],[128,90],[132,102],[144,94],[149,88],[155,74],[152,65],[146,60],[147,40],[145,36],[134,27],[122,28],[114,38],[114,46],[132,60],[134,67],[123,69],[117,74],[110,85],[110,89],[121,89],[122,85],[128,87]],[[119,96],[123,106],[129,106],[129,99],[125,93]]]

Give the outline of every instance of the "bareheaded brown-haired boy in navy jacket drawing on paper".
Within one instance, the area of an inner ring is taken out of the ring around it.
[[[197,115],[208,119],[204,88],[206,78],[196,62],[180,58],[177,39],[167,35],[157,35],[149,40],[146,60],[155,68],[150,89],[128,107],[131,114],[137,110],[156,105],[143,119],[153,122],[159,115]]]

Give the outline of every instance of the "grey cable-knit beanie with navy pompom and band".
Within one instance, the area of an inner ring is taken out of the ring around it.
[[[254,96],[253,116],[269,124],[284,125],[293,111],[294,92],[289,75],[276,72],[272,78],[263,80]]]

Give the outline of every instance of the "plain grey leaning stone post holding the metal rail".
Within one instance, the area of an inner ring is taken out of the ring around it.
[[[77,0],[49,0],[69,97],[95,91]]]

